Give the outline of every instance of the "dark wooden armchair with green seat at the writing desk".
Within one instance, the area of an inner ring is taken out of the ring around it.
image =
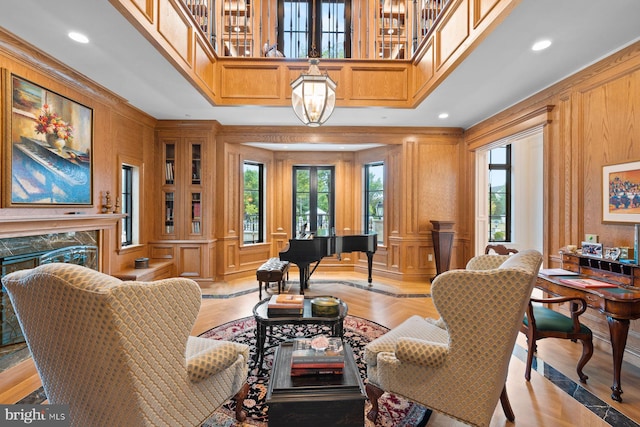
[[[541,305],[562,304],[565,302],[571,303],[569,307],[571,317]],[[578,361],[576,371],[580,381],[587,382],[589,377],[582,372],[582,368],[593,355],[593,334],[591,329],[580,323],[579,319],[586,309],[587,302],[583,298],[531,298],[527,307],[527,314],[520,328],[520,331],[527,336],[527,366],[524,372],[524,377],[527,381],[531,380],[531,364],[533,363],[533,355],[537,350],[536,341],[543,338],[562,338],[582,342],[582,356]]]

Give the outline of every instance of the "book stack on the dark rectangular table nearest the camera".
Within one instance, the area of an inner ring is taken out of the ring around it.
[[[342,375],[344,347],[342,339],[320,335],[295,338],[291,353],[291,376]]]

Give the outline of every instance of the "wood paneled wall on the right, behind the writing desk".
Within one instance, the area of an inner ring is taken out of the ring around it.
[[[558,251],[580,245],[585,233],[599,235],[606,247],[633,247],[634,224],[602,220],[602,168],[640,159],[639,112],[640,43],[635,43],[465,132],[472,152],[524,128],[544,126],[547,266],[559,267]],[[473,185],[473,176],[468,178]],[[472,206],[473,192],[464,194]],[[609,340],[600,313],[589,310],[581,319],[602,341]],[[640,358],[638,320],[631,322],[627,353]]]

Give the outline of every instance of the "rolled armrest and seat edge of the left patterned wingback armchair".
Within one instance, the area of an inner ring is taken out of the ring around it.
[[[249,346],[199,337],[189,337],[187,341],[187,372],[193,382],[224,371],[239,357],[249,361]]]

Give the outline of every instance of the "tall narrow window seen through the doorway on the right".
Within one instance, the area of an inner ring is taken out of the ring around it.
[[[489,241],[511,241],[511,145],[489,151]]]

